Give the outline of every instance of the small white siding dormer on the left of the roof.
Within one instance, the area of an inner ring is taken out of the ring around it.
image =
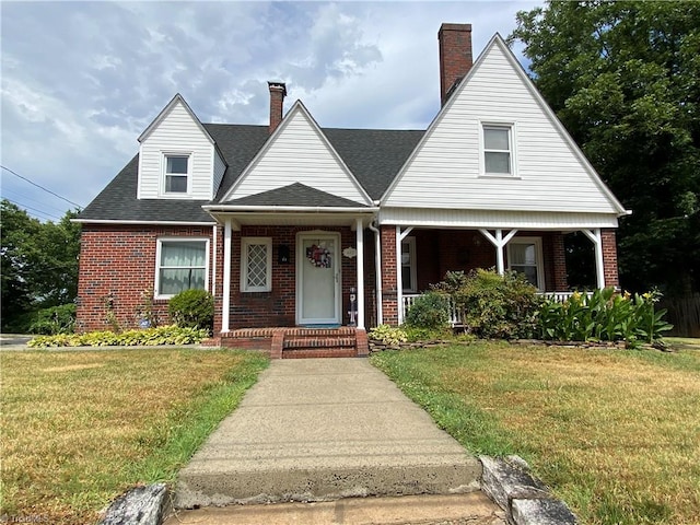
[[[209,200],[213,198],[225,164],[215,151],[213,140],[180,95],[170,102],[139,137],[139,199],[177,198]],[[187,194],[165,195],[165,155],[189,156]]]

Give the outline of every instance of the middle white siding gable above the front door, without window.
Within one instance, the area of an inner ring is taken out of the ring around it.
[[[359,203],[372,203],[299,101],[223,200],[241,199],[294,183]]]

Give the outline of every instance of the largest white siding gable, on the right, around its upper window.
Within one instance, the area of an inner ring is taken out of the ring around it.
[[[512,175],[483,174],[482,126],[506,125]],[[435,117],[383,207],[623,213],[497,35]]]

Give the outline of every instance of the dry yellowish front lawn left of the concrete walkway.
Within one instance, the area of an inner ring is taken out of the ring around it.
[[[124,490],[172,481],[267,365],[202,350],[3,352],[0,515],[94,523]]]

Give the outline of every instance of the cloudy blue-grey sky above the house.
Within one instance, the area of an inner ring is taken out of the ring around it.
[[[322,127],[425,129],[441,23],[470,23],[476,58],[540,3],[1,1],[0,192],[40,220],[84,208],[176,93],[202,122],[264,125],[282,81]]]

